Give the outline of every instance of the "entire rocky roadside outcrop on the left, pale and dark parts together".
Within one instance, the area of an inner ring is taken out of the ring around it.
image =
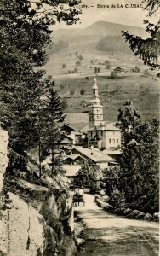
[[[3,174],[8,165],[8,134],[0,130],[0,256],[73,256],[72,199],[68,180],[45,174],[36,166]]]

